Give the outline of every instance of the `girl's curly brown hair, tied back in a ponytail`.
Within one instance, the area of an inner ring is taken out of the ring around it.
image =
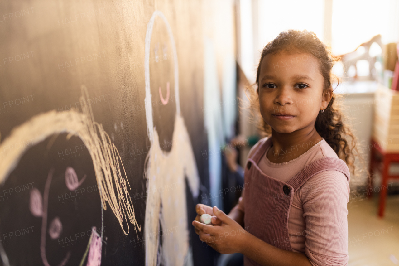
[[[358,158],[363,168],[361,170],[366,171],[370,182],[368,171],[364,167],[364,160],[358,151],[358,141],[356,136],[354,135],[350,126],[345,123],[345,121],[348,121],[348,119],[344,116],[339,107],[338,98],[340,98],[340,95],[334,93],[335,88],[332,88],[334,79],[336,79],[339,84],[339,78],[332,73],[332,67],[339,59],[332,56],[330,48],[320,41],[314,32],[308,32],[307,30],[287,30],[280,32],[277,38],[269,42],[263,48],[261,58],[259,60],[259,66],[257,68],[256,82],[255,84],[248,86],[246,89],[246,95],[249,99],[252,109],[252,118],[257,120],[256,123],[261,135],[263,137],[270,136],[271,127],[260,115],[259,97],[255,92],[254,87],[256,86],[256,91],[258,92],[262,60],[266,55],[277,54],[280,51],[285,51],[287,53],[302,52],[305,54],[310,54],[318,60],[320,63],[320,72],[324,77],[323,94],[326,93],[327,90],[332,90],[332,99],[330,103],[328,103],[325,111],[323,113],[318,113],[315,122],[316,131],[326,140],[330,147],[334,149],[338,157],[346,162],[348,168],[354,176],[358,176],[358,170],[360,170],[354,164],[355,159]],[[353,184],[355,182],[357,181],[351,183]]]

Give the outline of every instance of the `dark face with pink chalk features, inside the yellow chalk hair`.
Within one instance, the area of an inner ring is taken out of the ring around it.
[[[68,151],[72,154],[64,154]],[[22,156],[3,186],[19,193],[11,190],[14,197],[0,212],[0,232],[16,232],[6,235],[2,244],[11,265],[93,263],[85,250],[93,237],[102,239],[104,226],[94,167],[85,163],[89,161],[79,138],[66,140],[66,134],[53,135]],[[18,184],[29,185],[20,191]],[[101,246],[96,250],[101,261]]]

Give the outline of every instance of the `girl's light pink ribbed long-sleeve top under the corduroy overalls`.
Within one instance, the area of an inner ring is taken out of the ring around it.
[[[258,145],[259,142],[251,149],[250,155]],[[267,151],[259,162],[259,168],[266,175],[283,182],[317,159],[338,158],[324,139],[288,162],[272,163],[266,154]],[[289,157],[290,153],[286,156]],[[308,179],[294,194],[288,216],[292,250],[306,254],[312,265],[348,264],[349,191],[346,176],[339,171],[329,170]],[[237,208],[245,212],[242,199],[239,199]]]

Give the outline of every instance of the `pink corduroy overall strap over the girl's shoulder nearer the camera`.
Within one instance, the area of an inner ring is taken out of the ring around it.
[[[294,188],[294,192],[298,190],[303,183],[305,183],[310,177],[327,170],[336,170],[344,173],[350,181],[350,172],[346,163],[335,157],[323,157],[318,159],[309,165],[306,165],[304,169],[299,171],[290,180],[287,181],[288,185]]]

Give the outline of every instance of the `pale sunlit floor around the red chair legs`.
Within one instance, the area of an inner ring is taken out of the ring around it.
[[[385,216],[377,216],[378,194],[348,203],[348,266],[399,265],[399,195],[389,195]]]

